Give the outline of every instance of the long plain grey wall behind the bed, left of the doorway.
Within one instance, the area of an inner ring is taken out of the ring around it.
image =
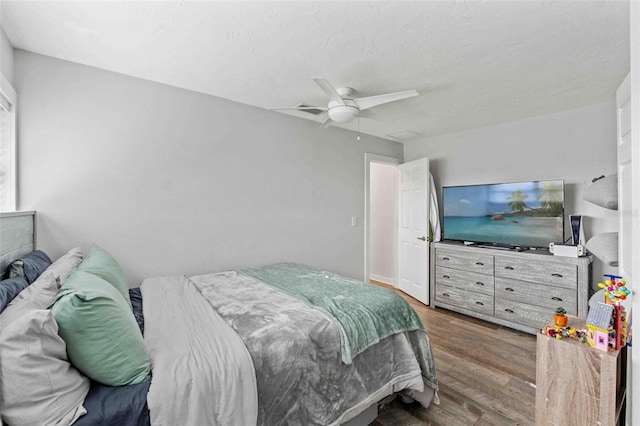
[[[364,154],[395,142],[16,50],[19,208],[52,257],[145,277],[296,261],[362,278]],[[351,227],[351,217],[359,226]]]

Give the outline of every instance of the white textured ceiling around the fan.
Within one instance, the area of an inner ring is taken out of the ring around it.
[[[628,1],[0,7],[16,48],[262,108],[325,106],[316,77],[356,96],[417,89],[360,122],[363,133],[391,140],[418,133],[403,142],[611,101],[630,66]]]

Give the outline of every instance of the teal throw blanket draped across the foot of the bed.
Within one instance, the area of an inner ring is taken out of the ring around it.
[[[241,271],[326,313],[340,329],[342,361],[396,333],[422,330],[418,314],[394,292],[295,263]]]

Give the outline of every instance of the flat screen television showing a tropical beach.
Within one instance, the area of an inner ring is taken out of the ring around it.
[[[564,241],[564,181],[442,188],[443,239],[507,247]]]

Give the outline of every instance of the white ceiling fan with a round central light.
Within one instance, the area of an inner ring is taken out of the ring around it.
[[[364,111],[374,106],[419,95],[416,90],[406,90],[404,92],[386,93],[384,95],[367,96],[364,98],[353,98],[353,89],[350,87],[334,88],[324,78],[314,78],[313,81],[315,81],[315,83],[320,86],[320,89],[329,96],[329,103],[326,108],[300,105],[295,107],[272,108],[272,110],[326,111],[327,119],[320,125],[320,127],[327,127],[331,122],[347,123],[355,120],[360,115],[360,111]]]

